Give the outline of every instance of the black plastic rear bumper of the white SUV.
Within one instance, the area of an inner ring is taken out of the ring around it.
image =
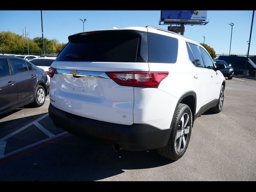
[[[93,136],[116,143],[125,150],[149,150],[167,145],[172,129],[147,124],[122,125],[93,120],[62,111],[50,104],[49,116],[57,127],[83,137]]]

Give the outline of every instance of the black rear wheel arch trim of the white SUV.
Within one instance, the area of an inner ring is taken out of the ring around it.
[[[172,122],[171,122],[171,126],[170,127],[173,126],[175,114],[176,114],[176,111],[177,111],[180,103],[186,104],[186,105],[188,105],[190,107],[191,112],[192,112],[192,116],[193,116],[193,122],[194,122],[194,118],[195,118],[195,115],[196,115],[196,92],[188,91],[188,92],[185,92],[179,98],[179,100],[178,100],[178,102],[176,104],[176,108],[175,108],[174,114],[172,116]]]

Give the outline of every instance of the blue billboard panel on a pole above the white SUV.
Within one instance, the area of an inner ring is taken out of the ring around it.
[[[206,20],[207,18],[207,11],[161,11],[161,20],[165,19],[185,19],[185,20]]]

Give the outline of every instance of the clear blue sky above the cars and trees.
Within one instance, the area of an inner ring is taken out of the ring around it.
[[[124,28],[128,26],[156,26],[167,29],[167,25],[158,25],[160,10],[136,11],[43,11],[44,37],[56,38],[60,42],[68,42],[70,34],[82,32],[82,22],[85,22],[85,31],[109,29],[113,26]],[[186,26],[184,36],[203,42],[213,47],[216,53],[229,53],[231,27],[232,54],[246,54],[247,41],[250,37],[252,11],[214,11],[207,12],[210,22],[203,26]],[[27,28],[29,38],[42,36],[40,11],[0,11],[0,31],[8,31],[22,35],[22,29]],[[252,28],[250,54],[256,54],[256,15]]]

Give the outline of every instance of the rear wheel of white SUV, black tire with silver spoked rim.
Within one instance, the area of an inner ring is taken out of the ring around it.
[[[179,104],[169,141],[158,153],[168,159],[178,160],[187,150],[192,131],[192,112],[186,104]]]

